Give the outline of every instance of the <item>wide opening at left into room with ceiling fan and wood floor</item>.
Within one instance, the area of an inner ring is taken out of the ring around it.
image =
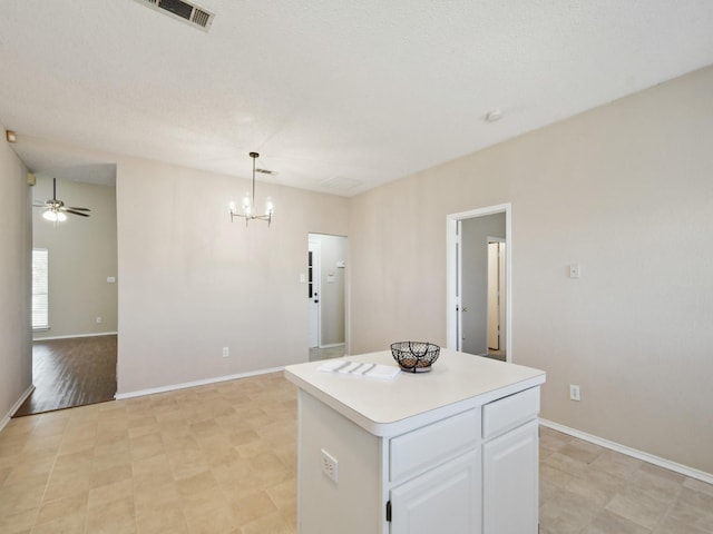
[[[41,207],[33,209],[35,390],[16,415],[106,402],[116,394],[116,166],[38,174],[33,201],[42,204],[53,195],[90,211],[89,217],[69,215],[53,224],[42,218]],[[43,254],[36,263],[37,251]]]

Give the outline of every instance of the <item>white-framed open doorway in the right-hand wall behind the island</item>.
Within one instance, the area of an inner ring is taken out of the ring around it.
[[[448,347],[510,362],[510,205],[449,215],[447,231]]]

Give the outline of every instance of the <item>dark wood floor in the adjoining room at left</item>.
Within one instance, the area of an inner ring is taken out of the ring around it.
[[[35,342],[32,383],[13,417],[113,400],[116,335]]]

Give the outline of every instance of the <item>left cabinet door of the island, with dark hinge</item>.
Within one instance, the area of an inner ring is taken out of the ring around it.
[[[391,534],[480,534],[480,449],[391,491]]]

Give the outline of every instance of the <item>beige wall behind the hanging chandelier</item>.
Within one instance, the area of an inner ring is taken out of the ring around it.
[[[247,186],[118,162],[119,394],[307,360],[307,234],[345,235],[348,200],[258,182],[275,216],[246,228],[227,202]]]

